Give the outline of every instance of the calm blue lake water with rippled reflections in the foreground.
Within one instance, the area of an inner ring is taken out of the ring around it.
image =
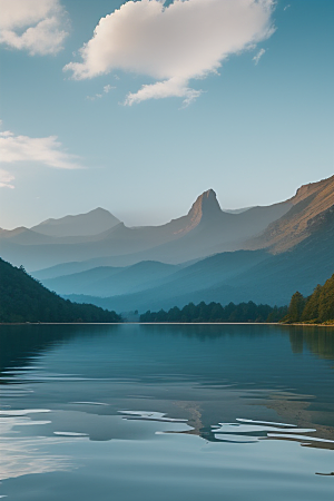
[[[0,498],[334,499],[334,330],[0,327]]]

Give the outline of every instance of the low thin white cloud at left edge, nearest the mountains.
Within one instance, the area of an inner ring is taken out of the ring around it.
[[[0,132],[0,157],[3,164],[39,163],[48,167],[59,169],[76,169],[81,166],[78,157],[63,150],[57,136],[32,138],[28,136],[14,136],[6,130]],[[9,174],[9,173],[7,173]],[[7,184],[13,178],[7,178]],[[1,179],[1,183],[6,183]]]

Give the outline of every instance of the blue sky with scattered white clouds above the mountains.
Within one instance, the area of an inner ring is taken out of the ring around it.
[[[0,227],[269,205],[334,174],[332,0],[0,0]]]

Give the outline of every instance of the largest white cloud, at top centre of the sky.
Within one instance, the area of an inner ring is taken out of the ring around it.
[[[229,56],[254,48],[274,28],[274,0],[128,1],[101,18],[80,49],[80,62],[63,69],[94,78],[121,69],[155,80],[129,94],[127,105],[177,96],[190,102],[200,90],[189,80],[216,72]]]

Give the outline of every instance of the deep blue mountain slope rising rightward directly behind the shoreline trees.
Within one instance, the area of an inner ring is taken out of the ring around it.
[[[334,208],[314,218],[316,230],[292,250],[269,254],[239,250],[207,257],[159,281],[155,286],[108,298],[70,295],[120,312],[169,310],[193,302],[235,304],[254,301],[272,306],[288,304],[296,289],[312,294],[334,271]]]

